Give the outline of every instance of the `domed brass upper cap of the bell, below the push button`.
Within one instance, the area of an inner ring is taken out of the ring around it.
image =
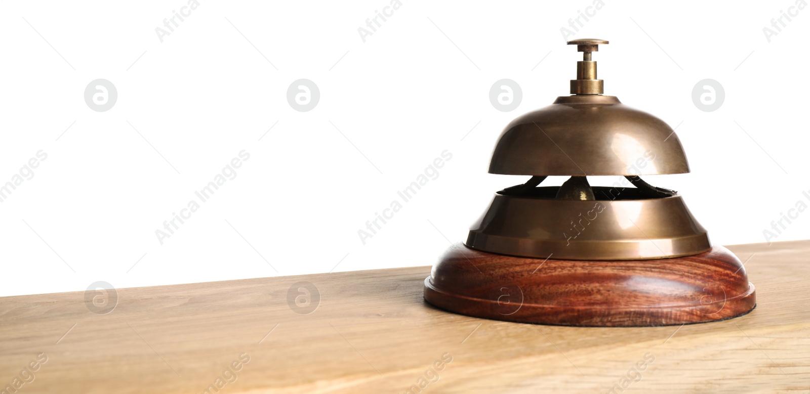
[[[492,174],[683,174],[689,163],[672,128],[612,95],[570,95],[518,117],[492,153]]]

